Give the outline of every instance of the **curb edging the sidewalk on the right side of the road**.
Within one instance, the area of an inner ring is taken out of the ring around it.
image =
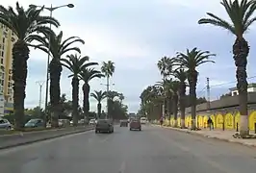
[[[152,126],[160,127],[158,125],[152,125]],[[225,141],[225,142],[230,142],[230,143],[237,143],[237,144],[241,144],[241,145],[247,146],[247,147],[256,147],[256,144],[243,143],[242,141],[235,141],[235,140],[232,140],[232,139],[219,138],[217,136],[206,136],[206,135],[203,135],[203,134],[194,133],[192,131],[182,131],[180,129],[176,129],[176,128],[172,128],[172,127],[165,127],[164,126],[162,128],[173,130],[173,131],[178,131],[178,132],[182,132],[182,133],[186,133],[186,134],[190,134],[190,135],[193,135],[193,136],[204,136],[204,137],[208,137],[208,138],[218,139],[220,141]]]

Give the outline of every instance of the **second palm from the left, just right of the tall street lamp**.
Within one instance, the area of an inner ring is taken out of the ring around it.
[[[80,37],[67,37],[63,39],[63,32],[60,32],[58,36],[55,34],[50,35],[50,37],[41,38],[38,40],[40,44],[37,45],[37,48],[44,51],[52,57],[52,60],[49,64],[49,73],[50,73],[50,103],[53,106],[52,111],[52,126],[58,127],[58,114],[59,114],[59,105],[60,105],[60,95],[61,95],[61,75],[63,71],[61,59],[64,54],[75,51],[81,53],[78,47],[70,47],[72,44],[80,42],[85,43]],[[48,51],[48,47],[50,48]]]

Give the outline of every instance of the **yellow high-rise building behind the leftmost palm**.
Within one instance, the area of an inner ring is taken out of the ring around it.
[[[0,24],[0,94],[5,98],[5,113],[13,111],[13,32]]]

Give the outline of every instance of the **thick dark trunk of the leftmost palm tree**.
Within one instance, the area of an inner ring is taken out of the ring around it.
[[[17,40],[13,45],[13,109],[15,130],[23,130],[24,127],[24,99],[26,97],[26,81],[28,73],[27,60],[29,48],[25,42]]]

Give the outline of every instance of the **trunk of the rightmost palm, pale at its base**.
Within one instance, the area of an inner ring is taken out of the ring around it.
[[[246,65],[247,65],[247,56],[249,54],[249,46],[247,41],[242,37],[237,38],[235,44],[233,45],[233,54],[235,64],[237,66],[236,77],[237,77],[237,88],[239,90],[239,111],[241,114],[240,121],[240,135],[247,136],[249,135],[248,130],[248,110],[247,110],[247,74],[246,74]]]

